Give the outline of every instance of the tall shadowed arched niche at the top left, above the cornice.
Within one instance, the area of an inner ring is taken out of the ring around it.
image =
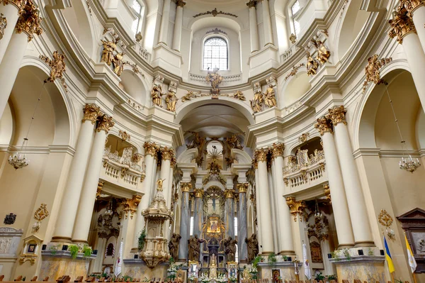
[[[69,28],[74,33],[83,50],[92,57],[94,50],[94,40],[96,37],[86,12],[84,1],[71,1],[72,6],[62,10],[62,15],[67,21]]]

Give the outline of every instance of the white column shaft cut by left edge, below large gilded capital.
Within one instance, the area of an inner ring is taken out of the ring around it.
[[[11,6],[11,4],[6,6]],[[11,95],[27,46],[28,36],[26,33],[13,33],[0,64],[0,117],[3,115],[8,98]]]

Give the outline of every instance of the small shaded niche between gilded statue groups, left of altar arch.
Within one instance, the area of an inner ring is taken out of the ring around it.
[[[128,67],[130,68],[130,67]],[[121,74],[120,88],[123,89],[135,101],[142,105],[146,103],[147,86],[145,82],[132,70],[125,69]]]

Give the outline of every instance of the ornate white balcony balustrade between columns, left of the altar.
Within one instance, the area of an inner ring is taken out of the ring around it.
[[[140,189],[145,179],[145,165],[139,165],[142,155],[132,154],[132,148],[125,148],[123,156],[105,148],[101,178],[127,189]]]

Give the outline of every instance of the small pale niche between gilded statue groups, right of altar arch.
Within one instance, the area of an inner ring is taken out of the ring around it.
[[[312,85],[309,81],[307,72],[297,72],[280,91],[280,101],[284,101],[285,106],[293,104],[311,89]]]

